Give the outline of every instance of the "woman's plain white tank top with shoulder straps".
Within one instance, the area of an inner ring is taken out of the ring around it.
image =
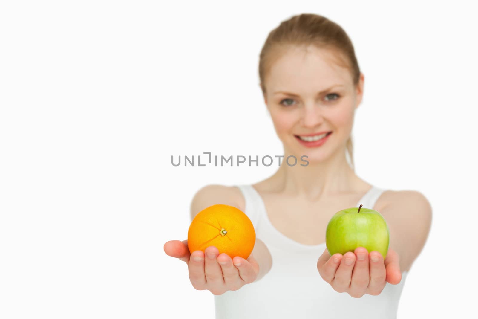
[[[272,255],[272,268],[260,280],[214,296],[217,319],[245,318],[367,318],[395,319],[403,284],[386,284],[380,295],[354,298],[338,293],[317,271],[317,259],[326,244],[305,245],[282,234],[269,220],[261,196],[251,185],[237,186],[257,238]],[[384,189],[372,186],[359,200],[372,208]]]

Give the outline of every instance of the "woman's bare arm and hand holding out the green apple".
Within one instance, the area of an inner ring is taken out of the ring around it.
[[[422,251],[432,221],[431,205],[424,195],[416,191],[395,192],[380,214],[390,230],[385,260],[379,252],[367,252],[364,247],[343,256],[330,256],[326,249],[317,260],[320,276],[337,292],[347,292],[355,298],[377,296],[387,282],[400,283],[402,271],[408,271]]]

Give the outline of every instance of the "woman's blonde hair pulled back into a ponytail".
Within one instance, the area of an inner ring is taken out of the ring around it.
[[[282,21],[267,37],[259,57],[259,78],[265,95],[265,76],[272,64],[291,46],[315,45],[337,53],[337,64],[350,69],[353,84],[359,83],[360,68],[352,41],[337,23],[324,16],[303,13]],[[346,143],[349,164],[354,169],[353,143],[350,136]]]

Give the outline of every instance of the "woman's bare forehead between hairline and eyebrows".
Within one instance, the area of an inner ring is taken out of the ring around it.
[[[340,65],[337,55],[337,51],[315,46],[288,48],[270,67],[267,88],[300,93],[315,92],[334,84],[351,86],[350,70]]]

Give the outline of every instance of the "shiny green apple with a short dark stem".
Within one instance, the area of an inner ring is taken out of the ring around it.
[[[327,224],[326,247],[331,256],[365,247],[369,253],[381,253],[385,260],[389,242],[390,231],[383,216],[362,205],[338,211]]]

